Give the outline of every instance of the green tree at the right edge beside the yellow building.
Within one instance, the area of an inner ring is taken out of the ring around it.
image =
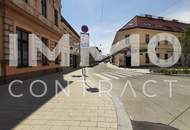
[[[190,26],[185,29],[185,33],[181,38],[182,55],[184,58],[184,67],[189,66],[190,59]]]

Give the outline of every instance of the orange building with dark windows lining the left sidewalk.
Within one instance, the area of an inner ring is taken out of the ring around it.
[[[1,81],[61,69],[59,58],[55,62],[48,61],[40,52],[37,54],[37,66],[28,66],[29,34],[37,35],[50,50],[54,49],[63,33],[66,33],[64,28],[70,29],[71,38],[80,39],[75,30],[71,26],[67,27],[67,24],[64,26],[65,21],[61,20],[61,0],[1,0],[0,6]],[[17,67],[9,66],[9,34],[12,33],[18,34]]]

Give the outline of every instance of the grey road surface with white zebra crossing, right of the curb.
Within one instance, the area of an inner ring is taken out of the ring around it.
[[[113,84],[112,94],[120,96],[127,80],[130,80],[137,97],[127,89],[121,100],[136,130],[180,130],[190,129],[190,78],[137,73],[135,70],[122,70],[105,64],[89,69],[93,80],[108,80]],[[148,93],[157,97],[144,96],[142,86],[147,80],[156,84],[148,85]],[[164,80],[178,80],[173,85],[173,97],[169,97],[169,83]],[[152,86],[152,87],[151,87]],[[128,87],[129,88],[129,87]],[[169,127],[169,126],[173,126]]]

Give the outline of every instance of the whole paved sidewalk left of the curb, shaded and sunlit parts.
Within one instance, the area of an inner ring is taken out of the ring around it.
[[[83,83],[78,82],[82,80],[81,70],[38,77],[48,86],[42,98],[29,93],[29,86],[35,80],[14,85],[14,94],[23,94],[21,98],[10,96],[7,85],[0,86],[0,130],[117,130],[111,97],[100,97],[86,88],[83,96]],[[58,89],[57,95],[55,80],[64,87],[64,91]],[[39,83],[33,91],[40,95],[44,88]]]

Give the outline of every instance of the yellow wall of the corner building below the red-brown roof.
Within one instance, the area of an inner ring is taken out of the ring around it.
[[[140,50],[146,50],[147,49],[147,44],[145,43],[145,35],[149,34],[150,35],[150,39],[158,34],[158,33],[170,33],[175,35],[177,38],[181,37],[182,33],[177,33],[177,32],[167,32],[167,31],[159,31],[159,30],[150,30],[150,29],[140,29],[140,28],[136,28],[136,29],[130,29],[130,30],[125,30],[125,31],[121,31],[118,32],[115,38],[115,42],[121,41],[123,39],[125,39],[126,35],[132,35],[132,34],[139,34],[140,35]],[[168,52],[171,51],[171,52]],[[168,54],[168,56],[172,56],[172,46],[170,44],[166,45],[164,42],[160,43],[160,46],[157,48],[157,53],[160,54],[160,58],[164,59],[164,55]],[[145,63],[146,61],[146,53],[147,52],[140,52],[140,65],[144,66],[144,65],[153,65],[152,63]],[[118,66],[125,66],[125,55],[121,55],[121,54],[117,54],[116,58],[115,58],[115,64]],[[123,58],[121,58],[123,57]]]

